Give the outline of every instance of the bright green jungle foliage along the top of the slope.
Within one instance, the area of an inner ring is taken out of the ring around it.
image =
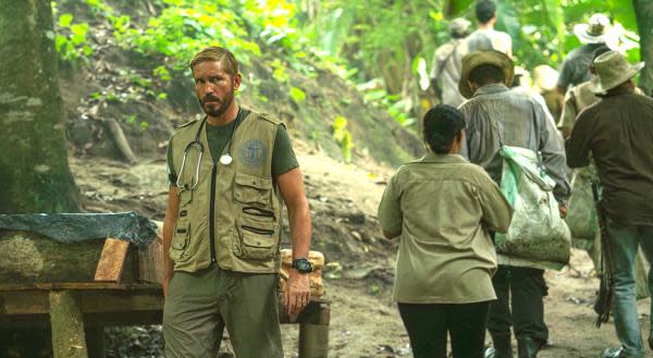
[[[415,123],[435,48],[449,38],[448,18],[475,20],[473,0],[149,0],[156,10],[149,18],[121,14],[122,0],[82,2],[111,24],[120,46],[161,63],[152,72],[155,85],[188,71],[188,59],[200,48],[219,45],[245,64],[254,57],[263,59],[285,84],[287,69],[306,76],[335,72],[405,125]],[[572,26],[596,12],[623,28],[624,50],[630,60],[639,59],[632,0],[496,2],[497,28],[513,36],[515,58],[526,69],[559,67],[579,46]],[[56,24],[61,58],[83,64],[93,54],[88,25],[67,13],[56,13]],[[256,86],[256,78],[249,83]],[[155,88],[147,90],[160,96]],[[299,88],[288,90],[296,103],[306,98]]]

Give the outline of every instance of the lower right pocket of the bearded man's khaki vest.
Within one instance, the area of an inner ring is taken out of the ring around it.
[[[268,260],[279,251],[279,224],[246,218],[236,219],[234,254],[242,259]]]

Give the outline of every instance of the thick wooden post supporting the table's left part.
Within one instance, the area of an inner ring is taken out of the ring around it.
[[[50,324],[54,358],[88,358],[82,309],[71,292],[50,292]]]

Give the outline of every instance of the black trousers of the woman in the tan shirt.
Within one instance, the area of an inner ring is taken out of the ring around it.
[[[415,358],[446,358],[447,332],[454,358],[482,358],[490,303],[398,304]]]

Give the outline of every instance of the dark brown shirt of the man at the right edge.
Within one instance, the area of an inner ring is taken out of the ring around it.
[[[605,96],[578,115],[566,149],[571,168],[592,155],[611,219],[653,225],[653,99],[627,89]]]

